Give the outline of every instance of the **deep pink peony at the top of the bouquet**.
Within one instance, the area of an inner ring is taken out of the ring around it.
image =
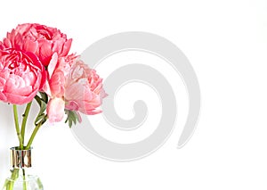
[[[72,39],[67,39],[59,29],[41,24],[20,24],[11,33],[7,33],[0,48],[15,48],[36,54],[47,66],[54,53],[66,56],[69,53]]]

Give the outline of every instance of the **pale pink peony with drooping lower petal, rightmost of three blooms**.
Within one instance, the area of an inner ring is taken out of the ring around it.
[[[97,108],[106,96],[102,79],[84,62],[77,61],[76,55],[59,58],[54,54],[47,70],[48,82],[44,92],[51,98],[47,105],[50,121],[61,121],[64,109],[77,112],[77,115],[78,112],[88,115],[101,112]]]

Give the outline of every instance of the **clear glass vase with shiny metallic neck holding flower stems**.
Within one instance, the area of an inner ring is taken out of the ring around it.
[[[33,175],[31,166],[31,150],[19,150],[12,147],[11,153],[11,175],[5,179],[2,190],[43,190],[43,184],[36,175]]]

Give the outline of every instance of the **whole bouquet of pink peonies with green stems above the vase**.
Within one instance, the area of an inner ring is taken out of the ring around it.
[[[0,42],[0,100],[11,103],[20,150],[28,150],[46,120],[63,120],[69,127],[81,122],[79,112],[100,113],[106,96],[102,79],[77,54],[69,54],[72,39],[59,29],[41,24],[20,24]],[[35,128],[25,140],[33,100],[40,106]],[[17,105],[25,104],[19,124]]]

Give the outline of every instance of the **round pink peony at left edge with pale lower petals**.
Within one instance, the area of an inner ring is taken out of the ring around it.
[[[23,104],[44,86],[46,72],[35,54],[15,49],[0,51],[0,100]]]

